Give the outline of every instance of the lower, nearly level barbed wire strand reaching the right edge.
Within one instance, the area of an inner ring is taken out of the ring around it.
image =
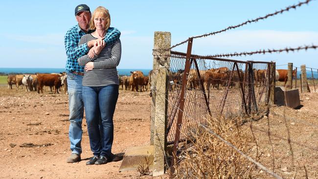
[[[308,49],[316,49],[317,45],[305,45],[305,46],[298,46],[296,48],[286,47],[283,49],[260,49],[257,51],[252,52],[234,52],[234,53],[227,53],[227,54],[216,54],[216,55],[207,55],[207,58],[213,58],[213,57],[232,57],[232,56],[242,56],[242,55],[253,55],[253,54],[265,54],[265,53],[281,53],[281,52],[289,52],[289,51],[299,51],[299,50],[308,50]]]

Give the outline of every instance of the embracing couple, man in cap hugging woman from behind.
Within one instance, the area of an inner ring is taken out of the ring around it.
[[[110,27],[109,11],[102,6],[91,14],[89,6],[75,8],[78,22],[65,35],[69,100],[68,163],[81,160],[82,119],[85,109],[87,130],[93,156],[87,165],[114,160],[113,116],[118,98],[121,43],[118,29]]]

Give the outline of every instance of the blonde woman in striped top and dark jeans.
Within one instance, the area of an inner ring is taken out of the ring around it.
[[[85,66],[83,77],[83,101],[86,114],[87,129],[90,137],[93,157],[86,163],[105,164],[112,155],[114,138],[113,116],[118,98],[118,75],[116,67],[121,56],[120,40],[105,45],[98,38],[104,37],[110,27],[111,17],[104,7],[97,7],[92,14],[91,34],[82,36],[78,45],[96,40],[91,48],[91,55],[84,55],[78,59],[80,66]],[[100,123],[100,126],[99,126]]]

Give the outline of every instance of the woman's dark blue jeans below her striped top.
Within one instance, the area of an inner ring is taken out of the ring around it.
[[[87,130],[94,156],[110,157],[111,155],[114,139],[113,116],[117,98],[118,85],[83,86]]]

